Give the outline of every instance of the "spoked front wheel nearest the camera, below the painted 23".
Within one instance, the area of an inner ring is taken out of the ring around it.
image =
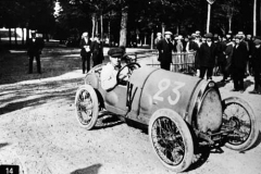
[[[153,113],[149,138],[157,157],[170,170],[183,172],[191,164],[192,137],[186,122],[175,111],[160,109]]]

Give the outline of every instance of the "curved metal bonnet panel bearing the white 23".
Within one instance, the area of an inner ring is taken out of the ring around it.
[[[140,97],[140,113],[152,114],[156,110],[167,108],[185,117],[195,86],[200,78],[158,70],[148,77]],[[148,101],[152,101],[149,105]]]

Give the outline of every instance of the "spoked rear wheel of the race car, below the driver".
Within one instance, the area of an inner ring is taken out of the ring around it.
[[[91,86],[80,86],[76,91],[75,111],[76,119],[82,127],[91,129],[95,126],[99,114],[99,103],[96,91]]]

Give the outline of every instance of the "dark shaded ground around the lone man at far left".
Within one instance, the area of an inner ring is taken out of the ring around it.
[[[79,49],[76,48],[48,47],[44,49],[40,60],[42,74],[37,73],[35,60],[33,74],[28,74],[29,60],[26,50],[0,52],[0,85],[54,77],[82,69]]]

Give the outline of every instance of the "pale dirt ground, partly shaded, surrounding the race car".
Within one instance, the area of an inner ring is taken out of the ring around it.
[[[144,59],[141,64],[150,60]],[[22,174],[169,174],[152,152],[146,130],[110,115],[94,130],[79,127],[74,96],[83,84],[77,49],[47,48],[42,75],[26,74],[27,57],[13,51],[0,58],[0,164],[17,164]],[[36,65],[34,66],[36,67]],[[215,77],[214,80],[220,80]],[[261,127],[261,96],[248,77],[244,94],[221,86],[222,97],[238,96],[253,108]],[[261,136],[244,152],[222,148],[201,154],[185,173],[260,174]]]

